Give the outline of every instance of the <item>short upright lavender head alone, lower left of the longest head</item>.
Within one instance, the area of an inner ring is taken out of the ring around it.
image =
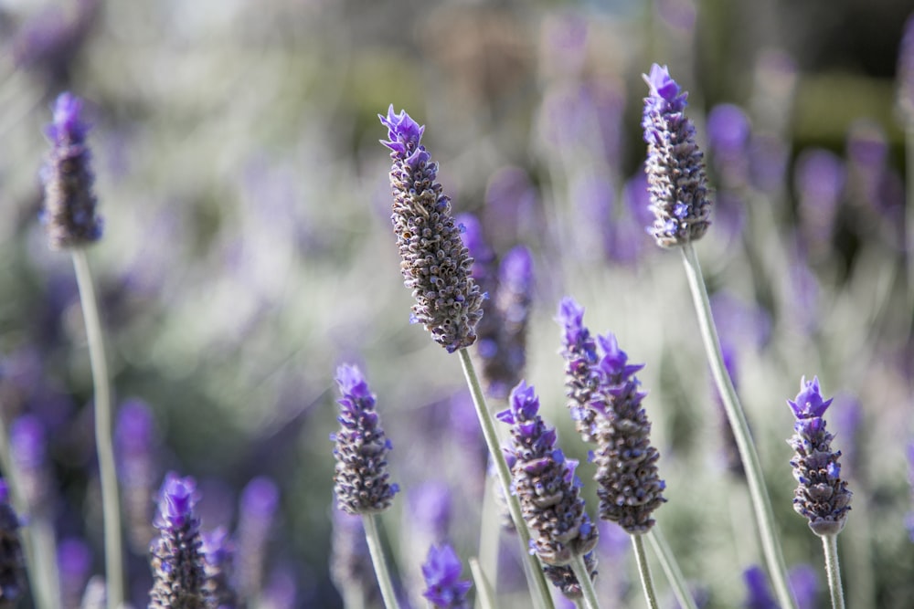
[[[336,506],[350,514],[384,511],[399,490],[388,482],[390,440],[384,436],[375,412],[375,395],[361,371],[353,365],[336,370],[336,383],[343,397],[337,417],[341,428],[330,436],[335,441],[336,473],[334,491]]]

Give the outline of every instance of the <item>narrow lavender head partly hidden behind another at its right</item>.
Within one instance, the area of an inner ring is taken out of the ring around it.
[[[590,407],[590,401],[600,382],[600,374],[595,369],[597,343],[584,326],[584,308],[570,296],[558,303],[556,320],[562,326],[561,355],[565,359],[565,394],[571,419],[581,438],[594,442],[596,412]]]

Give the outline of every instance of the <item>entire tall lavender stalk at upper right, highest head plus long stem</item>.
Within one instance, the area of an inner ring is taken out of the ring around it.
[[[707,232],[711,203],[707,198],[702,152],[695,141],[695,126],[685,116],[686,94],[670,78],[665,67],[654,64],[650,75],[644,79],[650,89],[644,99],[642,121],[644,141],[648,147],[646,172],[651,208],[656,216],[654,226],[649,230],[660,247],[681,248],[711,373],[723,398],[730,427],[736,436],[739,457],[746,471],[768,572],[781,606],[795,609],[796,601],[787,583],[787,567],[781,541],[776,534],[771,499],[762,477],[759,456],[749,433],[746,415],[724,365],[705,281],[692,247],[692,242]]]

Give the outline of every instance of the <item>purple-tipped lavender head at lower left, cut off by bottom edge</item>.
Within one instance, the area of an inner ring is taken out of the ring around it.
[[[175,472],[165,476],[153,521],[159,537],[150,547],[153,588],[149,591],[149,609],[210,606],[200,521],[194,514],[197,499],[194,478],[180,478]]]

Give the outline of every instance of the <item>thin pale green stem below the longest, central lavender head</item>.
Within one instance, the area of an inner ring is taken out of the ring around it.
[[[539,559],[531,554],[527,549],[530,547],[530,531],[526,528],[523,511],[520,508],[520,502],[517,496],[511,492],[511,469],[505,461],[505,454],[501,446],[498,445],[498,435],[495,433],[495,424],[492,414],[485,404],[485,395],[483,394],[483,385],[479,383],[476,376],[476,369],[473,367],[473,361],[470,359],[470,352],[465,348],[459,351],[460,361],[463,366],[463,374],[466,376],[466,382],[470,387],[470,394],[473,395],[473,405],[476,407],[476,415],[479,417],[479,425],[483,427],[483,436],[485,445],[489,447],[489,454],[495,462],[498,469],[498,479],[501,482],[502,490],[505,493],[505,502],[508,504],[508,510],[511,512],[511,520],[514,520],[517,536],[520,538],[522,551],[529,563],[528,576],[531,593],[534,598],[539,599],[541,606],[546,609],[555,609],[552,604],[552,595],[549,593],[549,586],[546,583],[546,577],[543,575],[543,567]]]

